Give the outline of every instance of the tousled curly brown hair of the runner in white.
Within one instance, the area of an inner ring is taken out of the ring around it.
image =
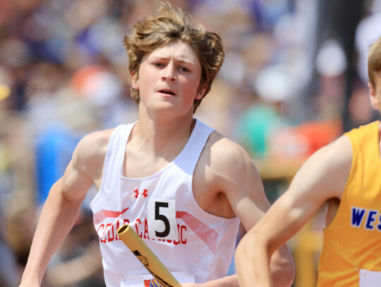
[[[176,41],[188,43],[198,56],[201,65],[198,92],[206,86],[205,97],[224,62],[222,39],[216,33],[205,30],[199,23],[193,25],[193,19],[188,13],[180,8],[172,8],[168,2],[160,4],[153,16],[138,20],[133,25],[131,34],[124,37],[128,70],[138,76],[143,56]],[[131,97],[139,104],[139,90],[131,87]],[[200,102],[201,99],[195,99],[193,112]]]

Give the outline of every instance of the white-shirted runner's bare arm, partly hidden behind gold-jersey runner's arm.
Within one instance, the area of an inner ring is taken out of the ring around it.
[[[203,174],[208,190],[215,190],[217,199],[208,205],[214,209],[203,208],[218,216],[238,216],[248,231],[270,207],[258,170],[248,153],[235,142],[216,135],[211,136],[210,142],[210,160],[202,162],[202,166],[206,166]],[[286,245],[274,252],[271,272],[276,286],[289,287],[294,281],[294,262]],[[216,283],[219,283],[217,286],[238,286],[234,280],[236,276],[224,277]],[[212,283],[205,286],[214,286]]]

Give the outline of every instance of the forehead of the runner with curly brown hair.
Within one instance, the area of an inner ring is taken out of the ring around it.
[[[171,42],[163,47],[159,47],[146,55],[147,58],[152,59],[170,59],[175,58],[178,61],[186,61],[200,65],[198,56],[192,49],[191,45],[186,42],[176,41]]]

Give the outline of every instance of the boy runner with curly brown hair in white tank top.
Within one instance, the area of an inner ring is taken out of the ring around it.
[[[144,286],[152,278],[116,236],[124,223],[139,229],[183,286],[238,286],[236,276],[224,276],[239,222],[248,230],[270,204],[247,152],[193,118],[224,60],[221,38],[197,27],[163,4],[125,38],[139,121],[80,140],[44,204],[20,286],[40,286],[93,184],[99,191],[90,207],[107,286]],[[159,215],[171,224],[162,235],[148,206],[164,209],[164,203],[168,211]],[[272,272],[277,286],[291,286],[294,265],[286,245],[274,253]]]

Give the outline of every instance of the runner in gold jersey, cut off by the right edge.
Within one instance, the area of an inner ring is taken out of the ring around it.
[[[368,54],[369,97],[381,114],[381,37]],[[344,133],[313,154],[236,249],[240,286],[273,286],[272,252],[326,206],[317,286],[381,282],[381,122]]]

